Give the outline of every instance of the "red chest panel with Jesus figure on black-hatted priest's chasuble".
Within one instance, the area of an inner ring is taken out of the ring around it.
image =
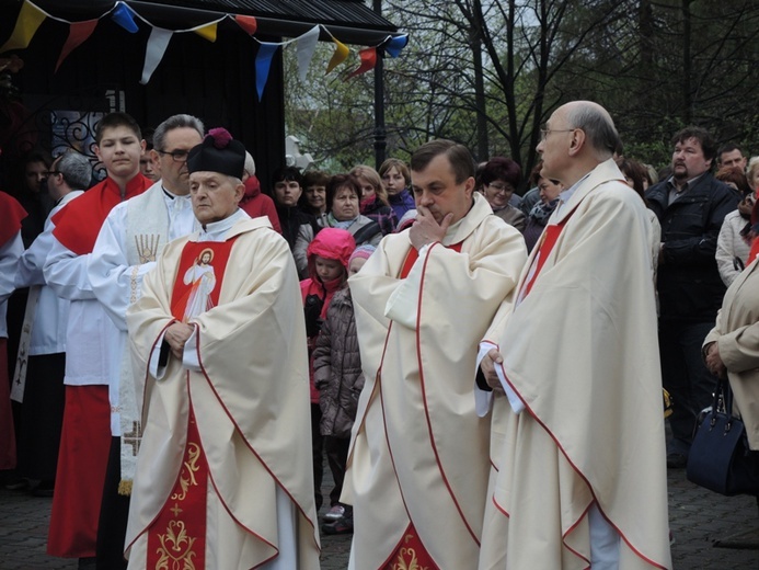
[[[221,280],[234,239],[185,244],[171,294],[171,314],[176,320],[187,322],[219,304]]]

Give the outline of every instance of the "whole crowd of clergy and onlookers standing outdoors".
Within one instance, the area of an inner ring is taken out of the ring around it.
[[[33,153],[0,193],[0,472],[53,497],[50,556],[671,568],[717,376],[759,449],[759,157],[686,127],[657,171],[587,101],[527,178],[438,139],[261,181],[197,117],[149,138],[111,113],[102,181]]]

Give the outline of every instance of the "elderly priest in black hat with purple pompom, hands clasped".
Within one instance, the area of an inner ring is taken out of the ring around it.
[[[145,425],[129,568],[319,568],[298,275],[268,219],[238,207],[244,152],[223,129],[191,150],[202,228],[165,248],[127,312]],[[199,305],[194,266],[215,277]]]

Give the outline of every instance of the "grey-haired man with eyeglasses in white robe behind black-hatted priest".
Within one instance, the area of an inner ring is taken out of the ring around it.
[[[203,134],[203,123],[185,114],[173,115],[156,128],[150,158],[160,179],[111,210],[88,267],[92,290],[118,329],[117,342],[108,346],[112,443],[97,528],[97,568],[126,567],[124,537],[141,433],[126,310],[140,297],[142,277],[166,243],[198,227],[189,200],[187,155],[200,144]]]

